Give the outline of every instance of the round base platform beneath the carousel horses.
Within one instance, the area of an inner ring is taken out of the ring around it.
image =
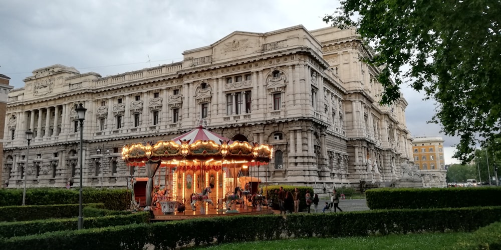
[[[248,206],[247,208],[236,207],[234,210],[227,212],[226,209],[215,209],[210,208],[206,210],[205,214],[200,213],[200,209],[195,211],[186,209],[183,212],[173,212],[170,214],[164,214],[162,209],[153,209],[154,218],[151,221],[163,221],[163,220],[180,220],[180,219],[192,219],[192,218],[207,218],[216,216],[233,216],[233,215],[262,215],[262,214],[273,214],[274,210],[271,207],[263,206],[261,210]]]

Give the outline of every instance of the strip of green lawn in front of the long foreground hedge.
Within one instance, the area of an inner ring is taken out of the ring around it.
[[[343,238],[301,238],[219,244],[197,249],[447,249],[469,233],[422,233]]]

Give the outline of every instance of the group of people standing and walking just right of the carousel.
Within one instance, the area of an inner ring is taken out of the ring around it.
[[[300,197],[301,193],[297,187],[294,189],[294,193],[292,193],[291,191],[286,192],[284,188],[281,186],[280,190],[278,191],[280,214],[299,212]],[[310,190],[307,190],[305,194],[305,199],[306,199],[306,205],[308,206],[308,213],[310,213],[311,211],[312,204],[314,205],[313,207],[315,209],[315,212],[318,212],[318,202],[319,202],[318,194],[315,193],[315,197],[312,198]],[[322,212],[325,212],[325,210],[331,210],[332,207],[334,207],[334,212],[336,212],[336,209],[339,209],[339,211],[343,211],[339,207],[339,195],[336,189],[332,191],[331,202],[330,203],[325,202],[325,206],[322,209]]]

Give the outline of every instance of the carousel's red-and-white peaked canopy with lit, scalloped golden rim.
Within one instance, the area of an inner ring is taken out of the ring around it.
[[[268,144],[247,141],[230,141],[219,134],[199,126],[187,133],[167,141],[141,142],[125,145],[122,158],[128,165],[144,165],[147,161],[178,162],[180,160],[214,160],[259,164],[269,162],[273,147]],[[253,163],[250,163],[253,162]],[[167,164],[168,165],[168,164]]]

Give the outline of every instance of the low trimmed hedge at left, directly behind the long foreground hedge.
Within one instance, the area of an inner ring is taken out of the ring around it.
[[[147,223],[148,212],[138,212],[127,215],[109,215],[102,217],[89,217],[84,208],[84,228],[107,227],[116,225]],[[0,222],[0,236],[10,238],[52,231],[76,230],[78,218],[44,219],[16,222]]]

